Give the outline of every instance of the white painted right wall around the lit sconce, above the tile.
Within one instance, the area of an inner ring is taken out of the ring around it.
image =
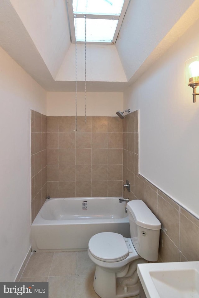
[[[199,55],[199,20],[124,93],[140,110],[140,169],[199,218],[199,97],[184,84],[184,63]]]

